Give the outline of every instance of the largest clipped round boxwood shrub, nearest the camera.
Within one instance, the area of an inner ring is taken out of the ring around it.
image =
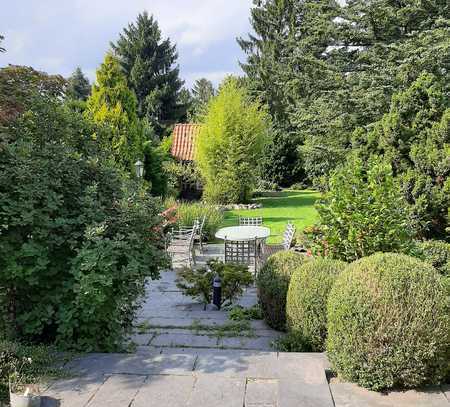
[[[438,383],[450,332],[443,280],[402,254],[348,266],[328,300],[327,352],[338,374],[373,390]]]

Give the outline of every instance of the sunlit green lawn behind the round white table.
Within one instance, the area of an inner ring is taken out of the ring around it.
[[[319,196],[318,192],[310,190],[270,192],[253,200],[262,203],[261,209],[225,212],[221,227],[238,225],[239,216],[262,216],[264,226],[271,230],[269,243],[279,243],[288,221],[292,221],[297,230],[303,230],[305,226],[316,222],[314,202]]]

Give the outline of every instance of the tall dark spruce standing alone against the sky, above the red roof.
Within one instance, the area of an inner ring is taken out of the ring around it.
[[[157,134],[163,135],[185,114],[185,106],[179,103],[183,81],[175,45],[162,38],[158,22],[144,12],[111,46],[136,93],[139,117],[146,117]]]

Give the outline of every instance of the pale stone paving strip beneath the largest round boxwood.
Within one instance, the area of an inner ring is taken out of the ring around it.
[[[449,407],[450,402],[439,387],[426,390],[377,393],[353,383],[330,383],[336,407]]]

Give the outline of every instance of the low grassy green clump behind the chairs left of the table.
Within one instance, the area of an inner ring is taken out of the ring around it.
[[[177,223],[182,226],[192,226],[195,219],[202,220],[206,215],[203,233],[208,240],[214,235],[223,222],[223,212],[214,205],[203,202],[182,202],[177,208]]]

